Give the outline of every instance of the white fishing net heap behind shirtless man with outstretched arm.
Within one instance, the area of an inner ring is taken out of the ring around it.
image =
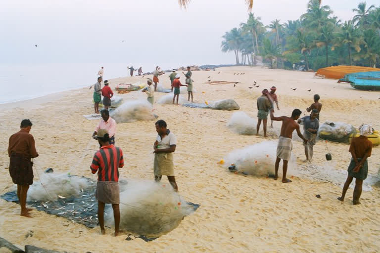
[[[240,172],[246,175],[267,176],[275,171],[277,142],[265,141],[243,149],[232,151],[224,159],[225,166],[231,172]],[[282,164],[280,164],[282,166]],[[295,157],[291,156],[288,162],[289,170],[296,167]],[[280,174],[282,169],[279,169]]]

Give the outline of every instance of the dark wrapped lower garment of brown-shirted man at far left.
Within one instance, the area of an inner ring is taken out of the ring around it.
[[[10,156],[9,174],[13,183],[19,185],[33,184],[33,168],[30,158],[21,154]]]

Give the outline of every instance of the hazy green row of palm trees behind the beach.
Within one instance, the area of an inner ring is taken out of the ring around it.
[[[309,0],[299,19],[275,19],[267,26],[250,13],[246,23],[222,36],[221,49],[234,52],[237,65],[255,65],[262,56],[272,68],[380,67],[380,6],[360,2],[352,11],[353,18],[343,23],[330,6]]]

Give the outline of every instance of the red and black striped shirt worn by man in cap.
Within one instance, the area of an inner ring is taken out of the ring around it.
[[[123,168],[123,151],[113,144],[102,146],[96,151],[93,163],[90,166],[93,174],[97,172],[98,181],[119,181],[119,169]]]

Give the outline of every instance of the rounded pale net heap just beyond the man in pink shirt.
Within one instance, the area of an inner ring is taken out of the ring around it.
[[[148,121],[154,120],[155,117],[152,113],[152,105],[145,99],[126,101],[111,112],[111,118],[116,123]]]

